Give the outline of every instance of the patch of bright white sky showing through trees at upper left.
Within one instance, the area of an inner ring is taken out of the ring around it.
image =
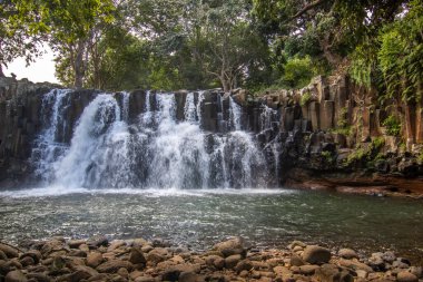
[[[56,82],[58,79],[55,77],[55,55],[52,50],[45,46],[46,54],[42,57],[37,58],[35,62],[31,62],[28,67],[24,58],[18,58],[12,61],[4,71],[6,76],[10,76],[13,72],[17,79],[28,78],[32,82]]]

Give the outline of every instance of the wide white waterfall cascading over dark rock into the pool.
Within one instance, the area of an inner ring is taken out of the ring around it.
[[[36,173],[45,185],[75,188],[265,186],[265,156],[254,135],[240,130],[240,107],[230,100],[232,132],[205,132],[204,99],[203,93],[187,94],[185,119],[178,120],[174,94],[147,91],[138,118],[129,121],[130,94],[122,93],[120,104],[116,96],[99,94],[85,107],[67,144],[56,135],[68,126],[60,116],[70,107],[71,93],[51,91],[43,100],[53,107],[43,114],[46,129],[32,152],[38,155]]]

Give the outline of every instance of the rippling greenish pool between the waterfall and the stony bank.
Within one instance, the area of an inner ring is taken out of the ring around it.
[[[262,247],[293,240],[422,260],[420,201],[292,189],[60,189],[0,193],[0,237],[161,237],[195,250],[240,235]]]

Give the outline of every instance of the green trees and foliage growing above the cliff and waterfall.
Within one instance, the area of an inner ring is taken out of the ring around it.
[[[348,71],[382,99],[420,98],[422,0],[1,2],[0,65],[47,41],[67,86],[257,90]]]

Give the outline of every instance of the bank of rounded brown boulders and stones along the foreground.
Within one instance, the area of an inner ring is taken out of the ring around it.
[[[420,280],[419,280],[420,279]],[[393,252],[370,257],[295,241],[286,250],[256,250],[239,237],[201,253],[163,240],[108,242],[53,237],[14,247],[0,243],[0,281],[423,281],[422,266]]]

